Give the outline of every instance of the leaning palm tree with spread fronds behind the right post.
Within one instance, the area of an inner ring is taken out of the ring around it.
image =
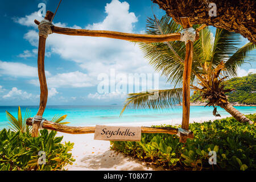
[[[179,32],[182,27],[168,16],[158,19],[147,19],[147,34],[171,34]],[[194,28],[198,26],[193,26]],[[224,108],[237,121],[253,123],[240,111],[235,109],[225,96],[224,81],[226,78],[237,76],[237,69],[241,64],[250,61],[249,52],[255,44],[249,42],[237,48],[241,39],[240,34],[229,32],[222,28],[216,29],[213,37],[209,28],[200,31],[200,38],[193,43],[193,62],[191,73],[191,89],[200,93],[200,97],[208,100],[208,106],[213,106],[213,114],[217,114],[215,106]],[[173,89],[151,90],[142,93],[130,93],[126,99],[123,111],[130,104],[134,107],[149,107],[159,109],[170,107],[182,101],[183,69],[185,58],[185,44],[180,41],[165,43],[139,43],[146,59],[167,77],[167,82],[174,85]],[[155,93],[155,100],[148,99]],[[200,98],[199,97],[199,98]]]

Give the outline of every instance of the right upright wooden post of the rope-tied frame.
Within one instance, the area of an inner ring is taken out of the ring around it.
[[[181,17],[181,24],[183,28],[192,27],[187,17]],[[193,60],[193,42],[188,41],[186,44],[186,55],[184,60],[184,72],[183,72],[183,115],[181,128],[188,130],[189,126],[189,110],[190,110],[190,78]],[[180,142],[185,143],[187,141],[187,135],[180,133]]]

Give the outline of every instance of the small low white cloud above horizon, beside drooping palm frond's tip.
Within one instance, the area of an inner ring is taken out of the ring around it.
[[[99,94],[99,93],[90,93],[88,94],[88,98],[93,99],[93,100],[112,100],[112,99],[123,99],[126,98],[127,94],[126,93],[121,93],[118,90],[111,92],[111,93],[104,93],[104,94]]]

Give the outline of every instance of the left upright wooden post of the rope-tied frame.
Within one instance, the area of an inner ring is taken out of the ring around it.
[[[47,11],[46,17],[51,21],[53,13],[51,11]],[[44,54],[46,51],[46,38],[43,36],[39,36],[39,45],[38,45],[38,77],[40,82],[40,105],[39,110],[36,115],[43,115],[44,109],[46,109],[47,97],[48,97],[48,89],[46,82],[46,74],[44,72]],[[32,137],[38,137],[38,129],[40,122],[34,121],[34,125],[32,125]]]

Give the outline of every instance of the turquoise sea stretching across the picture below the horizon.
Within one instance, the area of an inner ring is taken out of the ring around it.
[[[243,114],[256,113],[253,106],[235,106]],[[31,111],[34,117],[38,111],[38,106],[20,106],[22,114],[26,109]],[[0,106],[0,129],[8,127],[5,110],[17,117],[18,106]],[[55,114],[67,114],[65,121],[71,122],[70,126],[104,125],[107,123],[134,123],[134,122],[154,122],[172,121],[182,118],[182,107],[176,106],[172,109],[153,110],[153,109],[133,109],[125,110],[122,117],[119,114],[122,106],[47,106],[43,117],[51,120]],[[191,118],[212,118],[213,107],[191,106]],[[224,109],[217,108],[221,116],[228,116]],[[217,118],[216,118],[217,119]]]

